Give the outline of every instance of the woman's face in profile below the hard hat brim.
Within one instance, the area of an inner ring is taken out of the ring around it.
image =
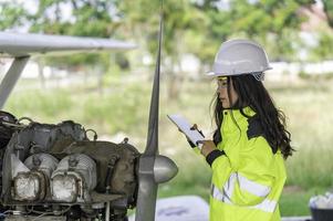
[[[223,108],[230,108],[233,106],[233,104],[238,99],[238,94],[236,93],[233,86],[232,86],[232,78],[230,78],[230,95],[228,96],[228,77],[220,76],[217,77],[218,82],[218,88],[217,93],[220,98],[220,102],[222,103]],[[229,99],[230,98],[230,99]]]

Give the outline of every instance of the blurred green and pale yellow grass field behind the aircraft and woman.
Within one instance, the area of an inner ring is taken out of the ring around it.
[[[333,186],[333,88],[332,80],[304,80],[298,83],[268,83],[277,106],[288,116],[294,156],[287,160],[288,180],[281,199],[282,215],[309,214],[311,196]],[[139,150],[145,147],[150,99],[150,83],[125,78],[114,82],[101,95],[96,91],[73,86],[56,90],[15,91],[6,110],[43,123],[73,119],[94,128],[102,137],[128,136]],[[173,158],[178,176],[162,185],[159,197],[209,194],[210,170],[200,156],[194,154],[166,114],[181,112],[211,135],[209,104],[215,90],[212,82],[185,82],[177,101],[168,99],[163,83],[160,94],[160,152]]]

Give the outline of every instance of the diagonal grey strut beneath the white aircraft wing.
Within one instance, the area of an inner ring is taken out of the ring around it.
[[[15,86],[30,56],[15,57],[0,84],[0,109]]]

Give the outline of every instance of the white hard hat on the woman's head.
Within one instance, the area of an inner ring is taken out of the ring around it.
[[[262,46],[249,40],[230,40],[223,42],[216,54],[210,76],[232,76],[252,74],[263,80],[260,74],[271,70]],[[259,74],[259,75],[258,75]]]

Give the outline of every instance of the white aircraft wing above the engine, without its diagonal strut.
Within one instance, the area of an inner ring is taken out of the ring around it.
[[[113,39],[0,32],[0,56],[131,50],[135,44]]]

